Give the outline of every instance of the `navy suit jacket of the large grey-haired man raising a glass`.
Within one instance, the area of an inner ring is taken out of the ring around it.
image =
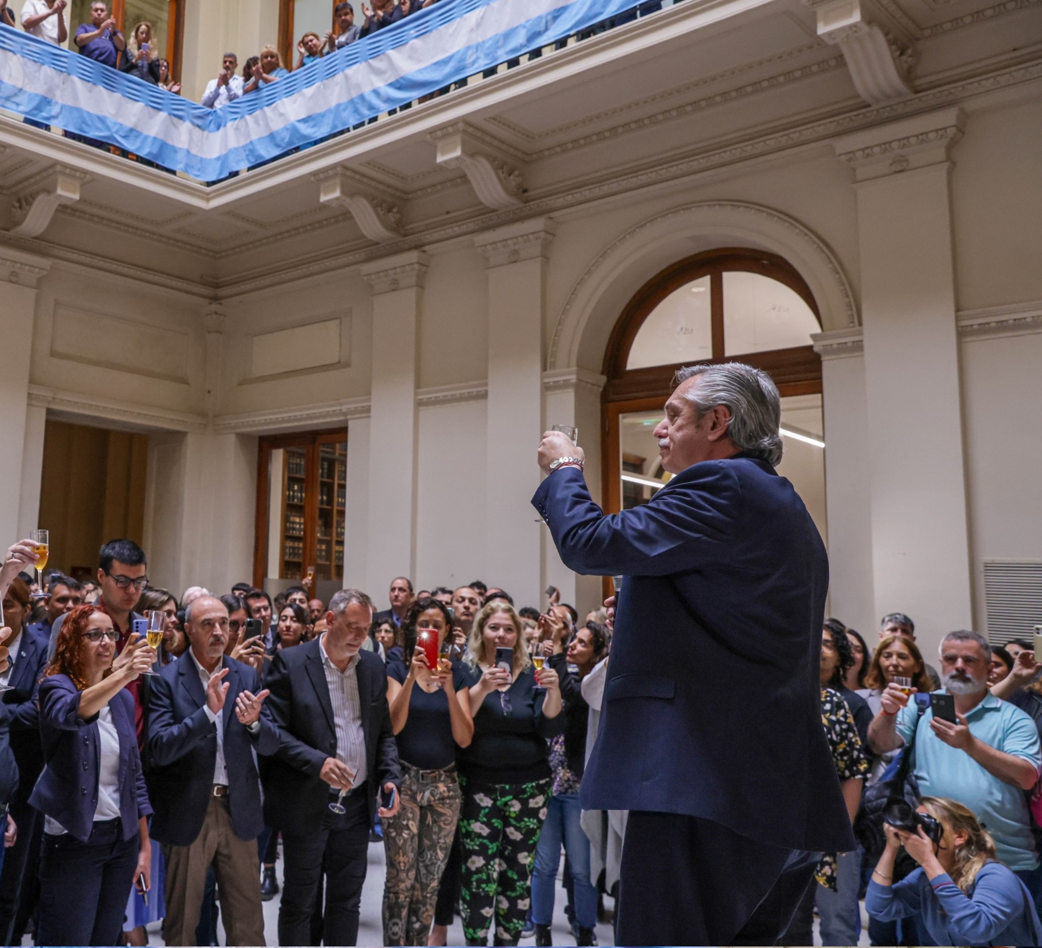
[[[605,516],[564,467],[532,504],[568,567],[625,577],[582,808],[853,849],[821,724],[828,559],[792,484],[765,461],[705,461]]]

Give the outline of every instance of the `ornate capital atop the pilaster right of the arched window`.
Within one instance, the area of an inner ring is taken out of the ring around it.
[[[946,162],[965,124],[961,108],[943,108],[844,136],[834,147],[859,181],[871,180]]]

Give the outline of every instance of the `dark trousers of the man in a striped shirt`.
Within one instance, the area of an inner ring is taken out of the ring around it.
[[[326,945],[354,945],[358,908],[369,861],[369,797],[365,785],[344,798],[343,816],[326,810],[322,825],[308,833],[282,831],[282,900],[278,908],[279,945],[312,943],[312,911],[325,876]],[[332,794],[329,802],[337,795]]]

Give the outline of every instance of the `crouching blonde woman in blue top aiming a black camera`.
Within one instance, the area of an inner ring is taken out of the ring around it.
[[[1032,895],[995,857],[995,844],[972,811],[954,800],[923,797],[918,812],[935,832],[884,824],[887,848],[865,897],[869,916],[895,921],[919,915],[935,945],[1042,944]],[[894,884],[902,846],[919,868]]]

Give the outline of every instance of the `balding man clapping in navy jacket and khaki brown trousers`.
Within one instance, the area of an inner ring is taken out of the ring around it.
[[[152,679],[148,748],[152,837],[167,857],[168,945],[196,944],[206,870],[214,864],[229,945],[263,945],[264,829],[254,751],[273,754],[278,731],[260,679],[228,658],[228,610],[213,595],[185,614],[192,647]]]

